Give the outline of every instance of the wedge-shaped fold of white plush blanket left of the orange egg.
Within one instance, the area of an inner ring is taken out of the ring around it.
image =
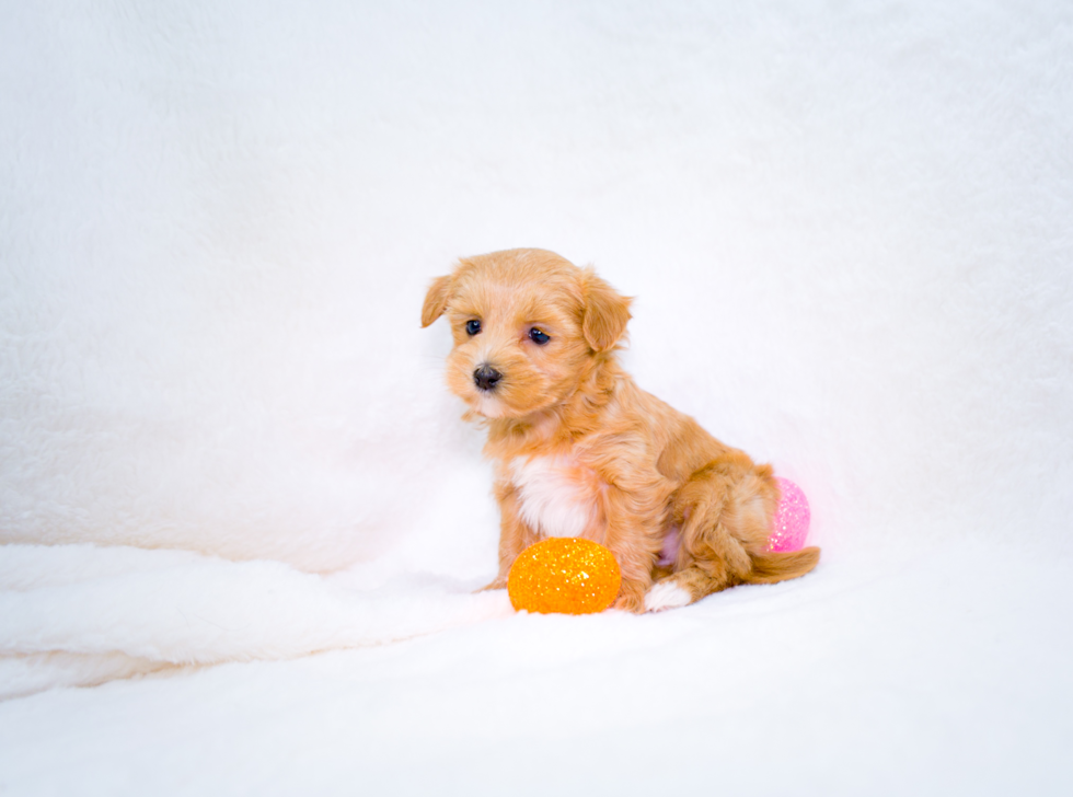
[[[353,579],[351,579],[353,581]],[[189,665],[377,645],[511,613],[499,592],[357,590],[276,562],[0,546],[0,697]]]

